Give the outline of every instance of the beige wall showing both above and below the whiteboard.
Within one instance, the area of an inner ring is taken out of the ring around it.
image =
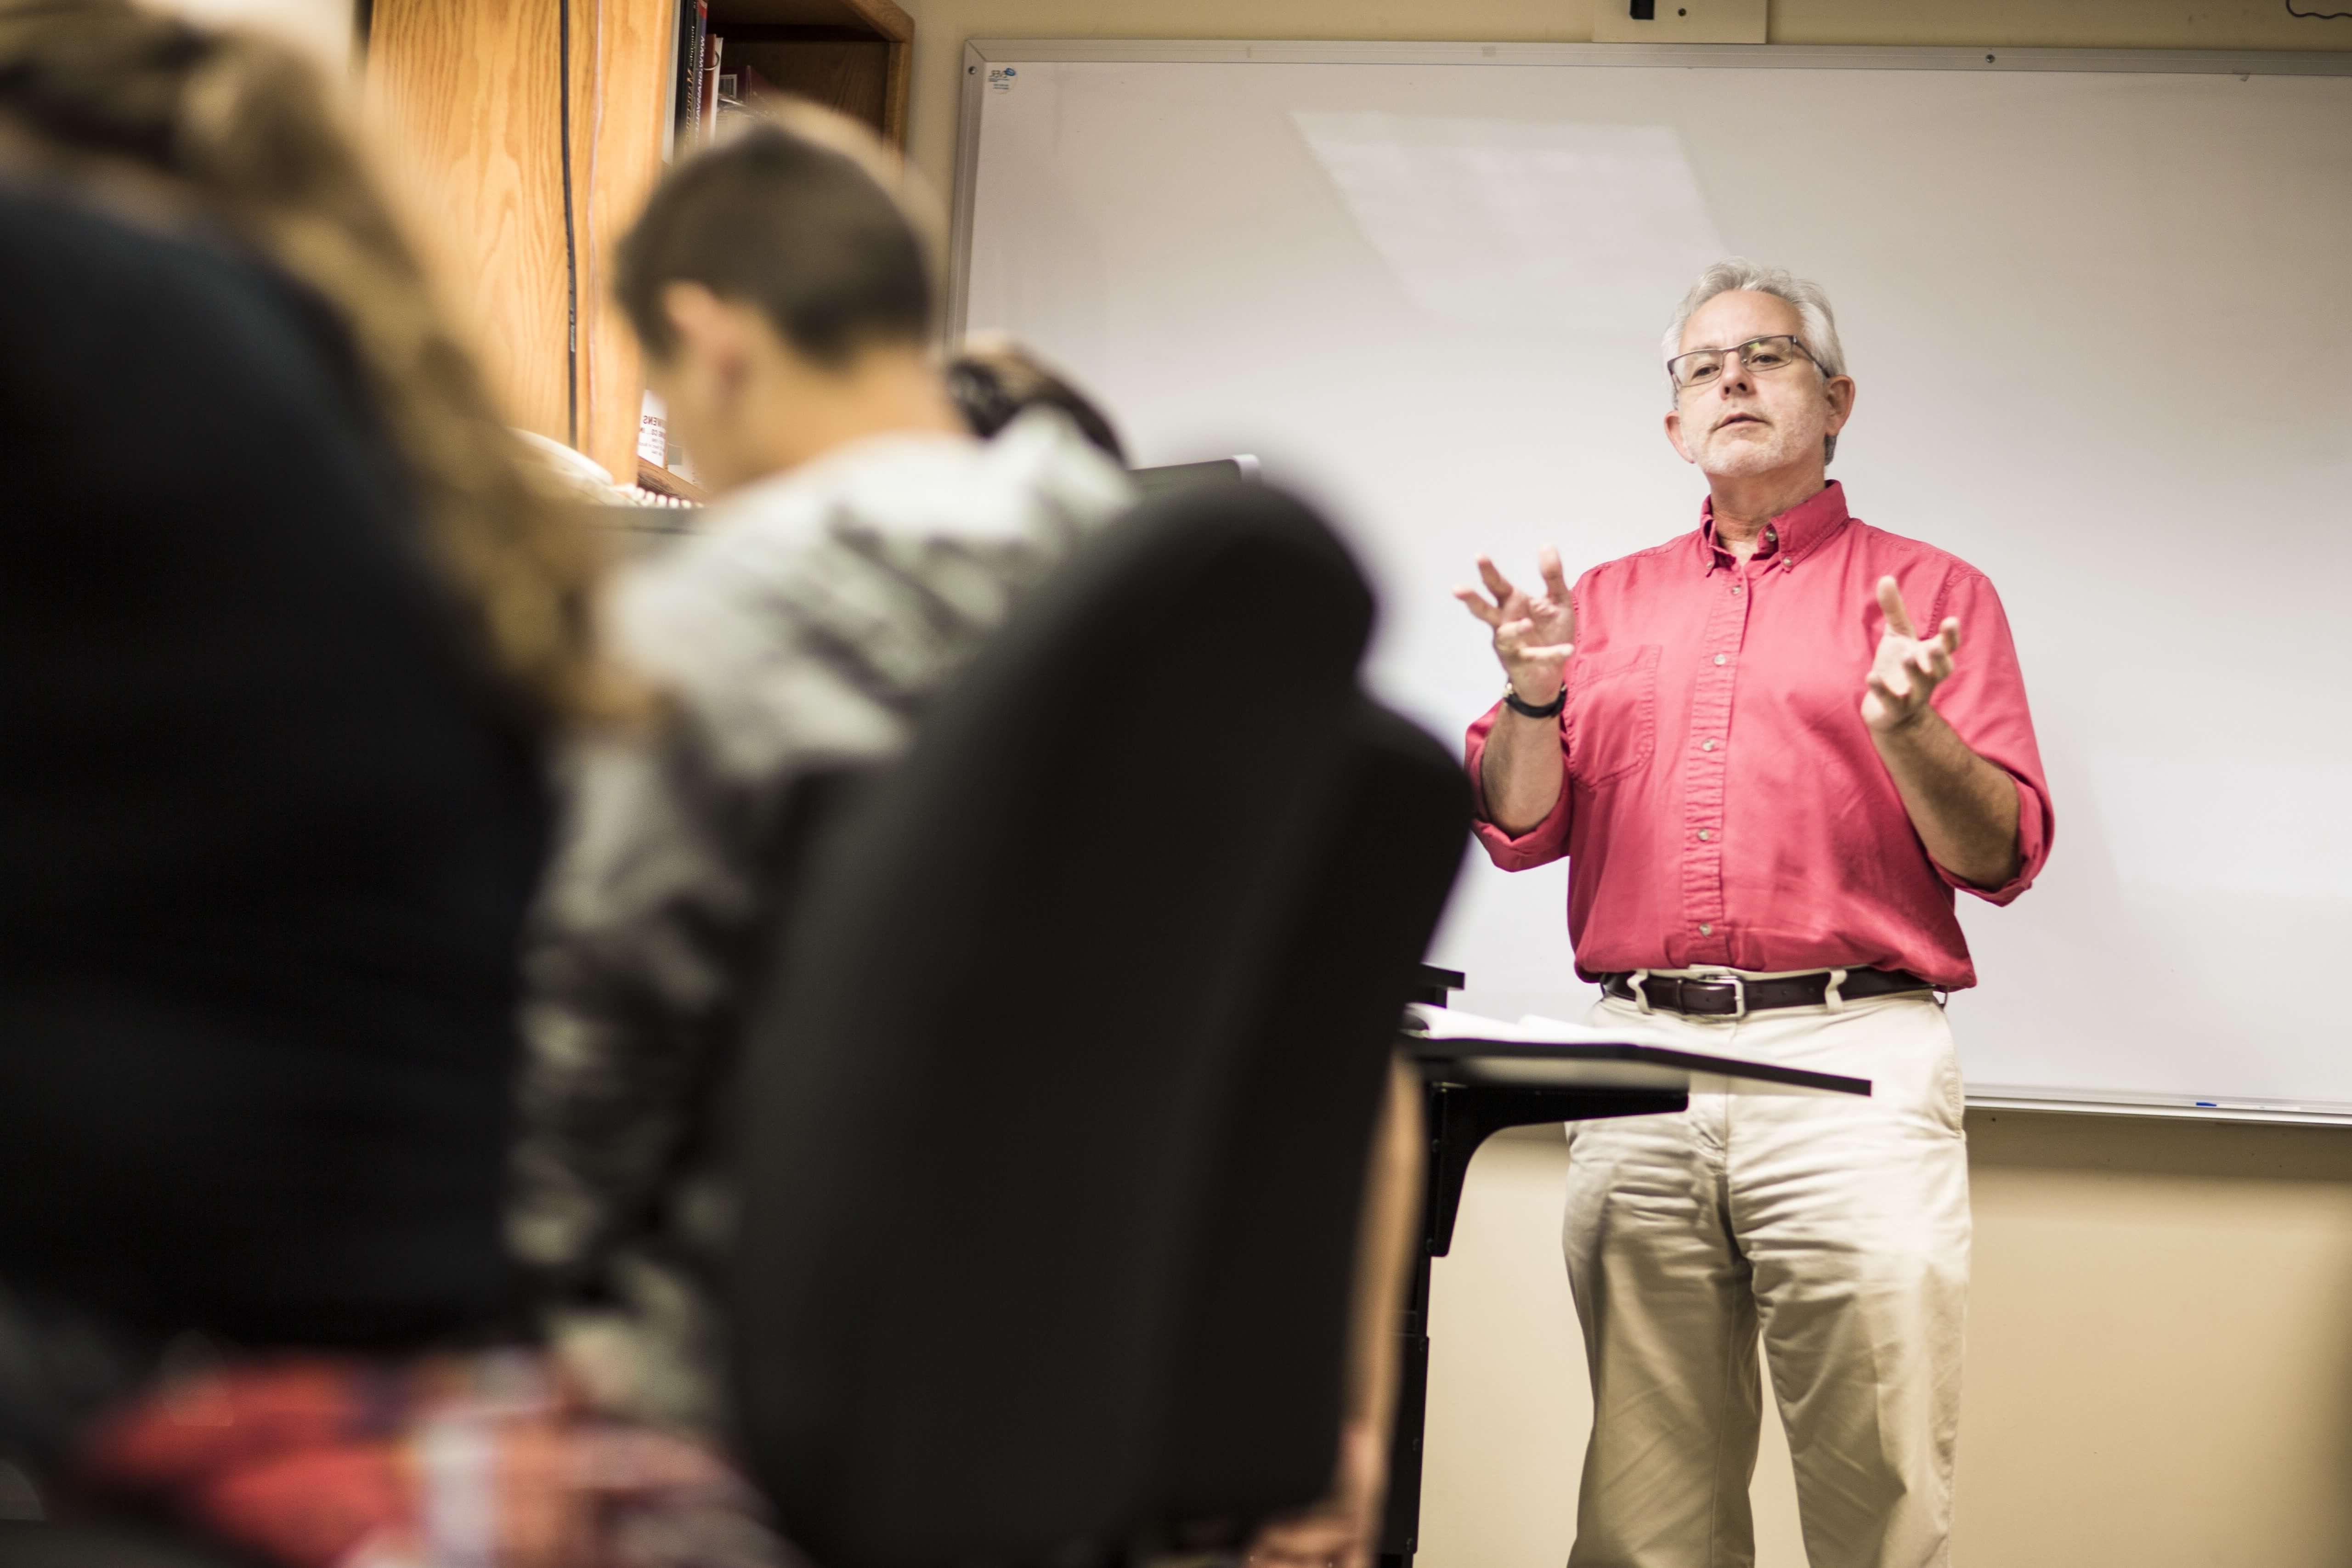
[[[953,176],[967,38],[1585,40],[1590,0],[906,0],[910,150]],[[2312,7],[2305,7],[2312,9]],[[1773,42],[2352,49],[2277,0],[1773,0]],[[1997,978],[1994,978],[1997,983]],[[2352,1131],[1973,1114],[1959,1559],[2352,1563]],[[1559,1563],[1590,1420],[1557,1138],[1479,1157],[1439,1265],[1423,1563]],[[1776,1422],[1766,1422],[1776,1427]],[[1762,1568],[1797,1568],[1788,1450]]]

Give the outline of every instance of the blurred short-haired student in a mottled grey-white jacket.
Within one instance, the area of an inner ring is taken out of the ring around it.
[[[628,576],[619,651],[670,701],[588,748],[527,947],[513,1239],[614,1408],[722,1425],[731,1201],[713,1143],[795,783],[877,762],[1011,604],[1131,503],[1056,411],[974,440],[880,148],[786,110],[684,162],[621,301],[720,503]]]

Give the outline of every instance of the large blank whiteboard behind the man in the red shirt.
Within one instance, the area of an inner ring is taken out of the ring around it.
[[[2352,56],[981,40],[957,324],[1141,463],[1254,451],[1378,583],[1374,686],[1498,691],[1470,557],[1696,527],[1658,336],[1724,254],[1837,306],[1856,515],[1992,576],[2056,799],[1962,898],[1985,1105],[2352,1119]],[[1432,959],[1578,1016],[1564,865]]]

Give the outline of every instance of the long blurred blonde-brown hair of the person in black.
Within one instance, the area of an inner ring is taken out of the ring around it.
[[[308,59],[129,0],[0,0],[0,167],[226,233],[320,296],[489,665],[550,719],[626,705],[595,651],[597,538],[529,473]]]

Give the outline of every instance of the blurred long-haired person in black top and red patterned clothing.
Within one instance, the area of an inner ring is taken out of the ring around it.
[[[306,61],[0,0],[0,468],[12,1483],[280,1568],[783,1561],[506,1335],[595,562]]]

